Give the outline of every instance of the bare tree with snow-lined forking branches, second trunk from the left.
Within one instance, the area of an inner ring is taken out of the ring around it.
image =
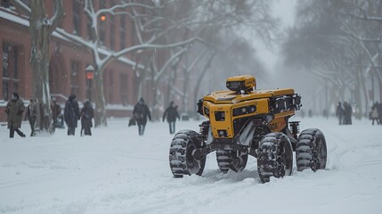
[[[170,27],[166,29],[157,29],[159,30],[158,33],[147,35],[148,38],[145,40],[142,40],[141,43],[137,45],[129,46],[123,50],[120,51],[109,51],[100,53],[103,46],[100,43],[100,35],[99,35],[99,28],[98,28],[98,20],[102,15],[110,14],[110,15],[121,15],[124,14],[131,19],[140,19],[145,18],[146,21],[143,23],[145,26],[152,26],[153,23],[157,21],[162,21],[160,17],[154,17],[150,16],[151,14],[138,14],[133,15],[131,12],[127,12],[126,8],[130,8],[131,10],[135,9],[137,11],[140,11],[139,8],[144,8],[149,11],[152,10],[160,10],[161,5],[148,2],[145,3],[134,3],[132,1],[121,1],[120,4],[115,4],[114,6],[110,8],[104,8],[96,11],[93,7],[93,2],[91,0],[85,0],[85,13],[90,21],[91,26],[91,35],[90,35],[90,41],[85,40],[81,37],[76,37],[72,34],[69,34],[68,32],[64,31],[63,29],[57,29],[57,32],[61,34],[61,36],[68,38],[71,41],[76,42],[78,45],[82,45],[85,48],[87,48],[93,56],[93,68],[94,68],[94,89],[95,89],[95,106],[96,106],[96,113],[95,113],[95,126],[98,127],[100,125],[106,126],[107,120],[106,120],[106,102],[104,98],[104,92],[103,92],[103,73],[105,72],[105,68],[107,67],[110,62],[115,61],[119,57],[126,56],[127,53],[134,53],[136,51],[140,50],[155,50],[155,49],[167,49],[167,48],[174,48],[179,47],[183,45],[188,45],[194,42],[195,40],[198,40],[196,37],[191,37],[183,41],[179,42],[172,42],[170,44],[160,44],[158,43],[158,40],[160,37],[163,37],[163,35],[166,35],[168,31],[171,29],[176,29],[177,25],[171,25]],[[137,9],[138,8],[138,9]],[[158,26],[158,24],[157,24]],[[138,28],[142,28],[142,26],[139,26]],[[138,65],[140,66],[140,65]],[[152,68],[152,67],[150,67]]]

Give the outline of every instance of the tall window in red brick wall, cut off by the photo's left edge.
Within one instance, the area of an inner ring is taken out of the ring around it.
[[[19,72],[18,72],[18,48],[16,45],[9,43],[3,43],[2,54],[2,81],[3,81],[3,100],[8,101],[12,92],[16,92],[19,89]]]

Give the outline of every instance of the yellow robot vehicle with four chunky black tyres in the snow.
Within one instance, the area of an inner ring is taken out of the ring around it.
[[[302,106],[294,89],[256,90],[256,78],[250,75],[228,78],[226,86],[229,90],[199,100],[198,113],[207,118],[199,132],[182,130],[174,136],[169,151],[174,177],[201,176],[210,152],[216,153],[224,173],[241,171],[248,155],[256,157],[262,182],[291,175],[293,152],[297,170],[325,169],[327,146],[321,130],[299,133],[299,122],[289,121]]]

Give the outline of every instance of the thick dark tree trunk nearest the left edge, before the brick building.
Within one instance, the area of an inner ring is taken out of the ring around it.
[[[62,0],[54,1],[54,13],[46,17],[43,0],[30,1],[29,6],[20,0],[12,0],[12,4],[22,13],[28,15],[29,32],[32,37],[30,65],[33,72],[34,97],[37,101],[37,128],[50,131],[52,113],[49,90],[49,45],[50,37],[63,18]]]

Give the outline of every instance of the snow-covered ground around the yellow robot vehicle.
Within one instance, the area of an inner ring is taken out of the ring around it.
[[[222,174],[215,153],[202,177],[173,178],[167,123],[144,136],[127,119],[110,119],[93,136],[8,138],[0,127],[0,213],[382,213],[382,126],[354,120],[298,119],[326,136],[326,170],[297,172],[261,184],[256,159]],[[198,130],[199,122],[178,122]],[[21,128],[29,132],[28,124]]]

